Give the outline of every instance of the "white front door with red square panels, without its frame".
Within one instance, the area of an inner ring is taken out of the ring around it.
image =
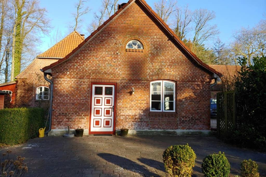
[[[114,85],[92,85],[90,132],[113,132]]]

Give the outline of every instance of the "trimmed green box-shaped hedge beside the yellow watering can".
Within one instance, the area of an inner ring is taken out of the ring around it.
[[[0,110],[0,143],[24,143],[38,136],[44,127],[42,108],[7,108]]]

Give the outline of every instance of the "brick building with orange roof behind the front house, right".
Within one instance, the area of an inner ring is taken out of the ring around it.
[[[222,80],[226,80],[231,83],[235,82],[235,76],[238,75],[238,71],[241,69],[241,67],[237,65],[210,64],[209,66],[223,75]],[[211,84],[213,83],[214,79],[211,81]],[[223,92],[225,87],[226,85],[219,79],[218,83],[211,87],[211,98],[216,99],[216,94]]]

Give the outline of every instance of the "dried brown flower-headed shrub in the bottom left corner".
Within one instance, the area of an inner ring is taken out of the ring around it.
[[[0,158],[0,176],[23,176],[28,172],[26,163],[23,163],[25,157],[18,156],[16,160],[10,158],[12,151],[7,150]]]

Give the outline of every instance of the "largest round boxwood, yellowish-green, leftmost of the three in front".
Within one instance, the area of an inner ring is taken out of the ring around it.
[[[196,154],[187,145],[169,146],[163,153],[165,170],[171,176],[191,176]]]

